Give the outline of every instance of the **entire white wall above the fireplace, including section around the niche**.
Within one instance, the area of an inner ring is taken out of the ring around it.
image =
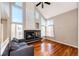
[[[40,13],[36,10],[34,3],[32,2],[27,2],[24,6],[26,10],[26,16],[24,15],[24,30],[39,30],[41,29],[41,16]],[[38,19],[36,19],[36,13],[38,12]],[[39,23],[39,29],[36,28],[36,23]]]

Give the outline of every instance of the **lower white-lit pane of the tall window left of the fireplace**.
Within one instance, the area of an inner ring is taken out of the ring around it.
[[[22,39],[23,38],[23,25],[12,23],[11,26],[11,38]]]

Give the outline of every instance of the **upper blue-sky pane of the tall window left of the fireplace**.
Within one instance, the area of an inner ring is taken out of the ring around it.
[[[22,19],[22,9],[16,6],[12,6],[12,22],[22,23]]]

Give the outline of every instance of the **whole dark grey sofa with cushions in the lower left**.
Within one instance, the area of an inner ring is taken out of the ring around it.
[[[26,42],[12,40],[6,47],[3,56],[34,56],[34,47],[27,45]]]

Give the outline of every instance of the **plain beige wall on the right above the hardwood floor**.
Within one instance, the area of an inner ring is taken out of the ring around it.
[[[78,10],[53,17],[55,40],[63,44],[78,47]]]

